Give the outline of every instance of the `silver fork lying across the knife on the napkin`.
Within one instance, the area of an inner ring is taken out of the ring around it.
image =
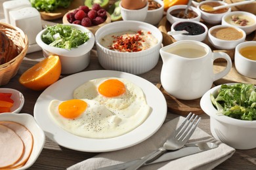
[[[162,147],[158,148],[157,150],[154,150],[147,156],[144,156],[140,161],[137,161],[134,165],[131,165],[131,167],[127,168],[127,170],[135,170],[138,169],[140,166],[142,166],[146,161],[148,160],[154,160],[153,158],[156,158],[157,156],[160,156],[167,150],[178,150],[179,148],[182,148],[184,144],[190,139],[191,135],[194,133],[196,127],[198,126],[201,118],[196,117],[194,118],[195,114],[192,114],[190,112],[188,116],[186,116],[186,119],[182,122],[181,126],[178,127],[178,129],[170,135],[163,144]],[[191,116],[191,117],[190,117]],[[194,120],[192,120],[194,118]],[[196,121],[196,119],[198,120]]]

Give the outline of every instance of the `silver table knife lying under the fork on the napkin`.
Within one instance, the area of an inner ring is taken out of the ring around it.
[[[196,154],[199,152],[203,152],[205,150],[211,150],[213,148],[217,148],[219,145],[215,144],[215,143],[196,143],[196,144],[186,144],[183,148],[179,149],[179,150],[175,150],[175,151],[169,151],[169,152],[165,152],[163,155],[161,155],[159,158],[157,159],[152,159],[152,160],[148,160],[146,163],[144,163],[144,165],[150,165],[153,163],[159,163],[162,161],[170,161],[170,160],[175,160],[177,158],[182,158],[184,156],[189,156],[192,154]],[[136,163],[137,161],[139,161],[140,159],[137,160],[133,160],[133,161],[127,161],[125,163],[120,163],[117,165],[111,165],[108,167],[102,167],[99,168],[98,170],[121,170],[121,169],[126,169],[127,167],[130,167],[131,165],[133,165],[134,163]],[[142,165],[142,166],[144,166]]]

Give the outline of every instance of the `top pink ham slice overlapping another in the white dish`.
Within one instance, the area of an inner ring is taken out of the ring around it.
[[[0,168],[16,163],[23,152],[22,139],[9,127],[0,125]]]

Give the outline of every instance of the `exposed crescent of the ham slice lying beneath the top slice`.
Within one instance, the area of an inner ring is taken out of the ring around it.
[[[30,131],[23,125],[18,124],[16,122],[0,122],[0,125],[9,127],[12,129],[19,137],[22,139],[24,143],[24,154],[22,155],[21,159],[18,160],[14,165],[11,167],[18,167],[20,165],[24,165],[28,158],[30,158],[30,154],[33,148],[33,135]]]

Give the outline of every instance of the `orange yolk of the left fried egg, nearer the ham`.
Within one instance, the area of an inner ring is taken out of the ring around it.
[[[77,118],[87,108],[87,103],[79,99],[71,99],[60,103],[58,112],[65,118]]]

